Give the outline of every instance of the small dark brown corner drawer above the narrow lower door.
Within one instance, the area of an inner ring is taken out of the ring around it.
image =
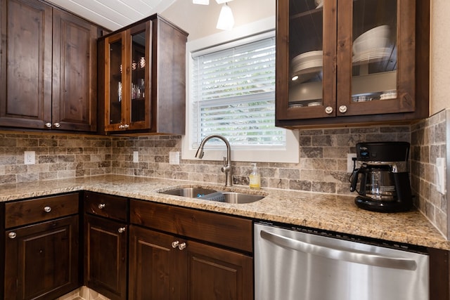
[[[104,216],[109,219],[127,221],[128,200],[124,197],[101,193],[84,193],[84,212]]]

